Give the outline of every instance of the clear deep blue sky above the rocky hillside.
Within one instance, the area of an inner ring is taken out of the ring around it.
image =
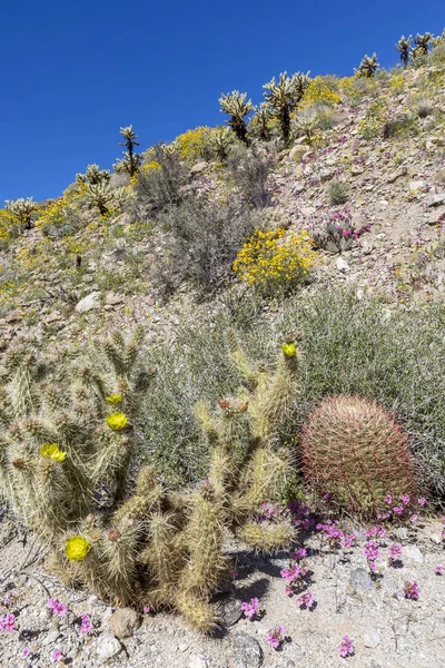
[[[444,0],[2,0],[0,207],[56,197],[90,163],[111,168],[119,127],[141,148],[255,104],[274,75],[349,76],[365,52],[397,62],[402,33],[445,27]]]

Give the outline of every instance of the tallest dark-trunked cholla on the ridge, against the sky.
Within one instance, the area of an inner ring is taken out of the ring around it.
[[[295,111],[309,85],[309,72],[296,72],[291,77],[287,72],[279,75],[278,84],[275,77],[263,86],[266,102],[271,114],[279,120],[283,140],[286,146],[290,138],[290,114]]]

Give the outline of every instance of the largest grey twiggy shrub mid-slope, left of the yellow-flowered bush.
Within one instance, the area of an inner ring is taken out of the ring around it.
[[[160,293],[182,281],[204,296],[230,277],[230,267],[246,237],[258,226],[258,215],[236,203],[225,206],[188,199],[161,216],[168,233],[165,256],[155,266]]]

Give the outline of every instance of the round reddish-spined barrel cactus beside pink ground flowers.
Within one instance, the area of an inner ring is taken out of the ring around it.
[[[301,449],[306,480],[350,511],[373,514],[388,493],[416,492],[408,435],[373,400],[325,397],[308,418]]]

